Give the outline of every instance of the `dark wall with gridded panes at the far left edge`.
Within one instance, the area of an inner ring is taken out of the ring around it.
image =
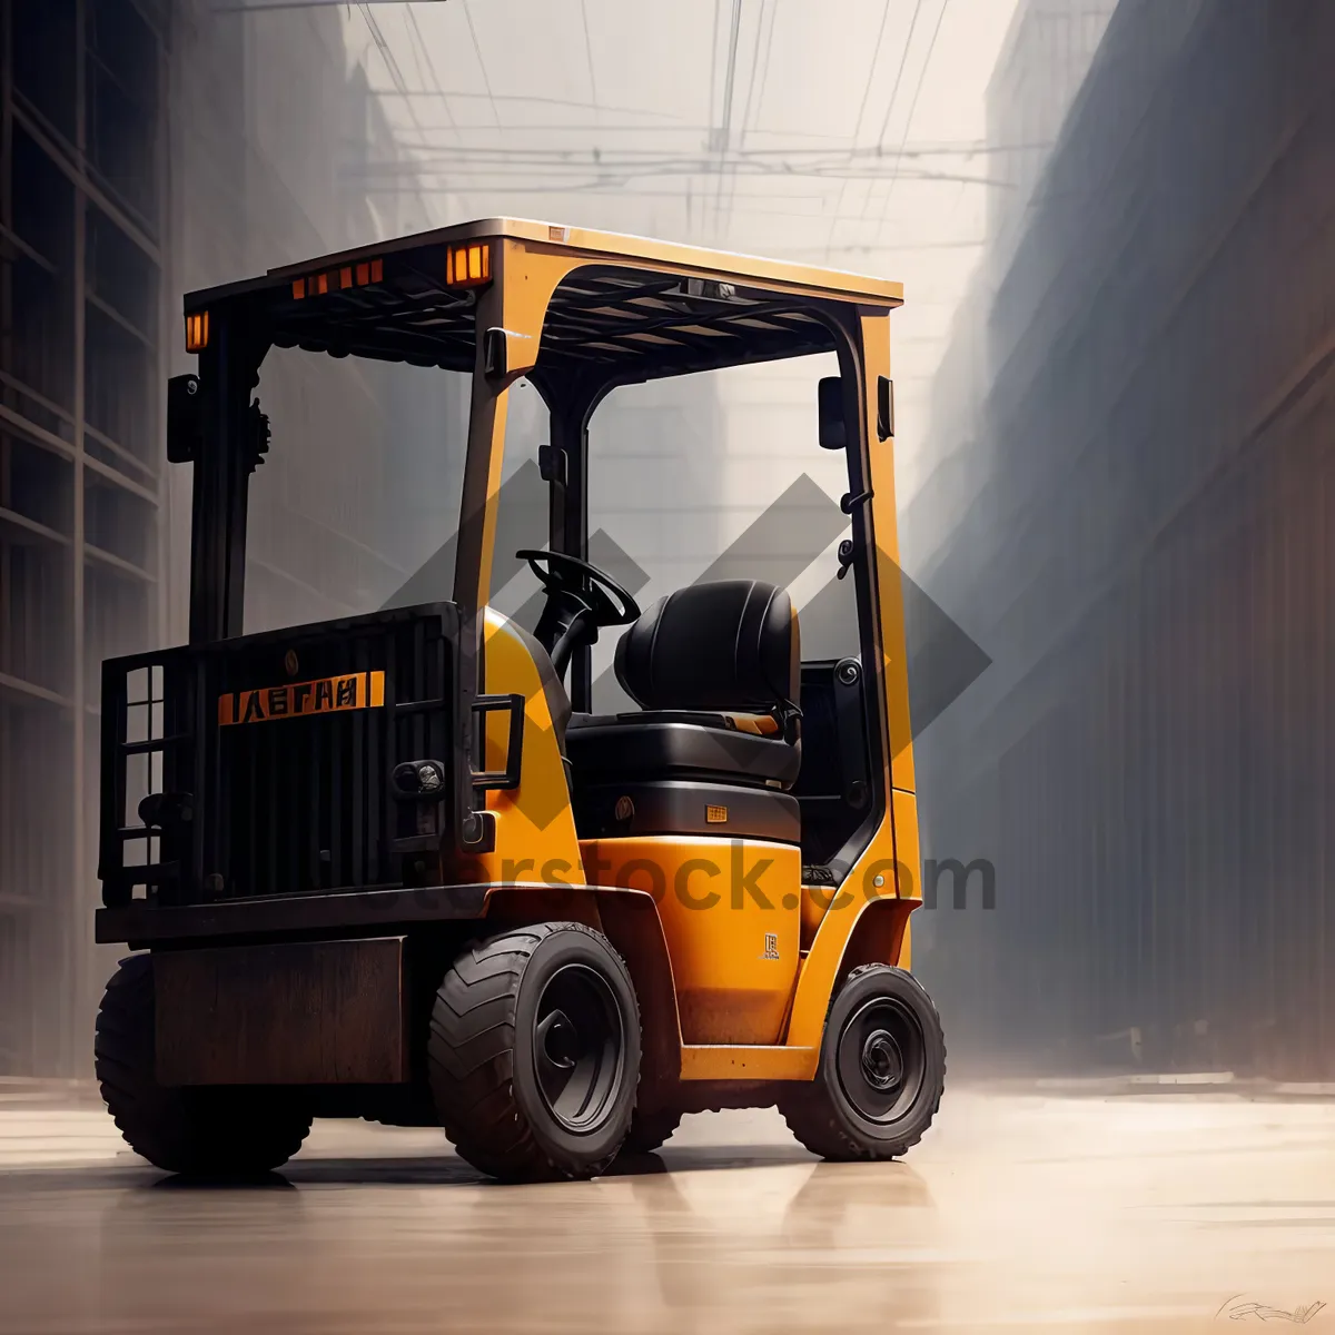
[[[97,662],[160,625],[168,227],[163,13],[5,0],[0,33],[3,1073],[87,1029]]]

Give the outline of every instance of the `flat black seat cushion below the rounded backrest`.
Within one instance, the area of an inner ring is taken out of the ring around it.
[[[800,744],[737,726],[728,714],[686,710],[573,714],[566,748],[575,782],[700,778],[757,788],[790,788]]]

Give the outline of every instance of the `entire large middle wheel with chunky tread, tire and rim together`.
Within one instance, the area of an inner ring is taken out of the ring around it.
[[[639,1007],[621,956],[579,922],[465,949],[427,1043],[446,1135],[510,1181],[594,1177],[617,1156],[639,1080]]]

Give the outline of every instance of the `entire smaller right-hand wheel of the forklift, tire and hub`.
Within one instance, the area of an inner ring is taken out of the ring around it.
[[[864,964],[840,988],[810,1084],[780,1100],[793,1135],[822,1159],[897,1159],[932,1125],[945,1087],[945,1036],[922,984]]]

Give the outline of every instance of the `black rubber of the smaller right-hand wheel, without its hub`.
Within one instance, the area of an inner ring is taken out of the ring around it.
[[[906,1093],[902,1111],[892,1109],[892,1117],[876,1120],[845,1089],[838,1067],[840,1044],[849,1025],[868,1013],[868,1005],[886,1001],[913,1021],[921,1044],[921,1081],[916,1092]],[[922,984],[893,965],[864,964],[849,973],[830,1005],[816,1079],[789,1085],[778,1100],[778,1111],[793,1135],[822,1159],[897,1159],[932,1125],[944,1088],[945,1036]]]

